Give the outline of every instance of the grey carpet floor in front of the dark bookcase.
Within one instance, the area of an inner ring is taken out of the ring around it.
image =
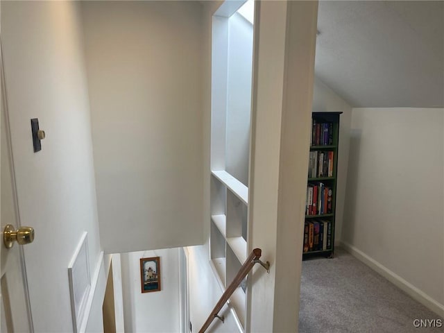
[[[300,289],[300,333],[444,332],[414,327],[439,317],[341,248],[303,261]]]

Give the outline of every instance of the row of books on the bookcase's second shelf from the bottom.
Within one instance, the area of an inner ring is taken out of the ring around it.
[[[323,182],[309,182],[305,215],[331,214],[333,212],[332,195],[332,188],[325,186]]]

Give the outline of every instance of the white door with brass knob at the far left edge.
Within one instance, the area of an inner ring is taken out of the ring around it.
[[[19,227],[15,180],[11,164],[10,137],[6,117],[7,105],[4,98],[3,65],[1,65],[1,331],[0,332],[33,332],[31,312],[28,311],[28,292],[24,257],[21,246],[14,244],[6,248],[3,243],[3,230],[6,225]],[[15,242],[16,243],[16,242]]]

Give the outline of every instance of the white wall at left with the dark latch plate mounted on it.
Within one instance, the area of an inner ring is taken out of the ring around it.
[[[34,328],[70,332],[67,267],[84,231],[92,275],[102,264],[78,3],[1,1],[1,34],[19,215],[35,228],[24,246]]]

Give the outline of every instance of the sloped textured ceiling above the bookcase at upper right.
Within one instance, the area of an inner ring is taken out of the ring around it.
[[[355,107],[444,105],[444,1],[320,1],[316,76]]]

